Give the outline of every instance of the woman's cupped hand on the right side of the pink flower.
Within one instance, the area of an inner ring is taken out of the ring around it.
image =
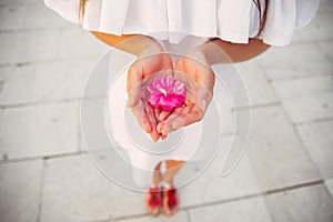
[[[162,135],[202,120],[213,97],[214,72],[199,48],[178,60],[174,78],[185,84],[186,100],[182,108],[160,114],[157,130]]]

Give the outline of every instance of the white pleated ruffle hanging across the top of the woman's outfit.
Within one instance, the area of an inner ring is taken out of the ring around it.
[[[46,6],[74,23],[80,23],[79,2],[44,0]],[[260,38],[271,46],[289,44],[294,30],[314,18],[320,0],[270,0]],[[163,31],[167,34],[162,39],[172,43],[184,37],[168,34],[172,32],[248,43],[258,33],[259,11],[252,0],[89,0],[82,28],[118,36]]]

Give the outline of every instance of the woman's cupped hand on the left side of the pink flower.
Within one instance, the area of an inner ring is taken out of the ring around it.
[[[128,72],[127,89],[129,95],[129,107],[132,108],[133,114],[142,129],[150,133],[153,141],[164,139],[157,131],[159,123],[160,110],[153,109],[148,103],[148,93],[145,85],[150,78],[161,71],[172,72],[173,64],[169,54],[163,53],[161,47],[153,43],[145,48],[137,61],[130,67]]]

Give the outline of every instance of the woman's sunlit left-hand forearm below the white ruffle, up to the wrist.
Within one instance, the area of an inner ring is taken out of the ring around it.
[[[131,54],[141,56],[143,51],[150,50],[150,52],[159,52],[162,51],[161,46],[150,37],[142,34],[123,34],[123,36],[114,36],[109,33],[102,33],[92,31],[93,36],[95,36],[102,42],[120,49],[122,51],[129,52]]]

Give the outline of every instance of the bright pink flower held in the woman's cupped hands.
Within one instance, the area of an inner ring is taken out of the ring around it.
[[[170,74],[155,79],[148,85],[148,91],[149,103],[153,108],[162,108],[165,111],[182,107],[186,97],[184,83]]]

